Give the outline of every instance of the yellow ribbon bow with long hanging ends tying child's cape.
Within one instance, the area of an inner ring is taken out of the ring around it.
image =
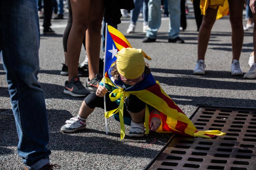
[[[112,94],[116,93],[116,96],[112,97]],[[115,101],[120,99],[120,104],[119,107],[117,107],[114,110],[110,110],[105,112],[105,117],[109,118],[113,115],[115,115],[117,112],[119,112],[119,120],[120,120],[120,136],[121,139],[124,139],[125,136],[125,128],[124,128],[124,99],[125,97],[129,97],[130,93],[124,91],[123,89],[115,89],[113,90],[110,94],[109,94],[109,98],[111,101]],[[149,133],[149,129],[148,129],[148,122],[149,122],[149,109],[148,109],[148,105],[146,104],[146,108],[145,108],[145,126],[146,126],[146,131],[145,134]]]

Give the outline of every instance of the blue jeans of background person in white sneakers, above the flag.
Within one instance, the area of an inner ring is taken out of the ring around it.
[[[142,7],[142,14],[143,14],[143,25],[148,24],[148,0],[133,0],[135,8],[131,11],[131,23],[133,25],[136,25],[136,22],[138,20],[139,14],[140,14],[140,8]]]

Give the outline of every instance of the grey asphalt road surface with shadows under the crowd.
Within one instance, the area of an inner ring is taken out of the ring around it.
[[[191,4],[189,7],[192,7]],[[126,136],[120,141],[120,126],[113,118],[108,119],[105,133],[104,110],[96,108],[87,119],[87,129],[72,134],[60,132],[60,127],[77,115],[83,98],[63,93],[68,77],[61,76],[64,63],[62,35],[67,23],[65,19],[53,20],[52,29],[57,35],[41,35],[40,73],[38,80],[45,92],[51,149],[50,161],[61,169],[143,169],[170,138],[170,134],[150,132],[142,138]],[[132,47],[142,48],[151,58],[148,61],[153,76],[165,92],[190,116],[198,105],[256,107],[256,79],[231,76],[232,59],[231,27],[228,17],[217,20],[207,49],[204,76],[193,75],[197,59],[197,36],[194,13],[187,15],[188,27],[180,37],[185,44],[168,43],[169,19],[162,18],[157,41],[142,43],[143,19],[140,17],[136,33],[126,34],[129,18],[122,18],[118,30],[124,33]],[[43,20],[40,19],[42,26]],[[244,24],[246,21],[244,20]],[[42,33],[41,29],[41,33]],[[102,50],[101,50],[102,51]],[[253,51],[252,29],[244,33],[244,46],[240,64],[244,72],[249,70],[248,59]],[[80,63],[86,52],[81,48]],[[100,57],[103,58],[103,52]],[[81,78],[85,81],[85,78]],[[40,121],[40,120],[38,120]],[[36,123],[36,122],[35,122]],[[24,164],[17,154],[18,137],[12,115],[6,76],[0,63],[0,169],[23,169]]]

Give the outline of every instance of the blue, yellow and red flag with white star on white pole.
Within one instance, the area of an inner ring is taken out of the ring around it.
[[[110,68],[111,64],[116,61],[116,53],[122,48],[132,48],[130,42],[116,28],[108,25],[106,29],[106,57],[104,73]]]

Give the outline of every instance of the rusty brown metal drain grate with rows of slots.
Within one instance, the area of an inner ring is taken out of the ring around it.
[[[256,170],[256,108],[199,106],[190,119],[199,130],[218,129],[227,135],[173,135],[145,170]]]

